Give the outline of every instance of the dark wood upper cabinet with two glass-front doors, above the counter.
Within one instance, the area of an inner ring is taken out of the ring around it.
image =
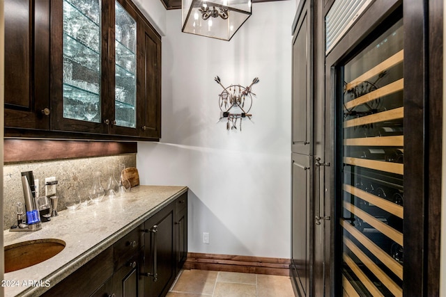
[[[132,1],[5,8],[6,137],[160,138],[161,37]]]

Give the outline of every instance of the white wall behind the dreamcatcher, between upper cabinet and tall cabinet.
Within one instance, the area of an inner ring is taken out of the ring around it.
[[[295,1],[255,3],[230,42],[181,33],[167,11],[162,38],[162,139],[139,143],[141,184],[190,187],[189,251],[290,257],[291,24]],[[254,77],[253,121],[226,131],[222,87]],[[210,243],[202,243],[202,232]]]

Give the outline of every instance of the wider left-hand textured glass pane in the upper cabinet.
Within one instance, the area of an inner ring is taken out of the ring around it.
[[[101,1],[63,0],[63,118],[101,122]]]

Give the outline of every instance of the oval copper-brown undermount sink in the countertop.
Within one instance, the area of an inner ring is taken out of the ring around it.
[[[5,273],[44,262],[65,246],[65,241],[59,239],[35,239],[5,246]]]

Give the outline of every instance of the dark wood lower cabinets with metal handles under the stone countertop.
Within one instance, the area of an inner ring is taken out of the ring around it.
[[[187,193],[43,296],[163,297],[186,257]]]

